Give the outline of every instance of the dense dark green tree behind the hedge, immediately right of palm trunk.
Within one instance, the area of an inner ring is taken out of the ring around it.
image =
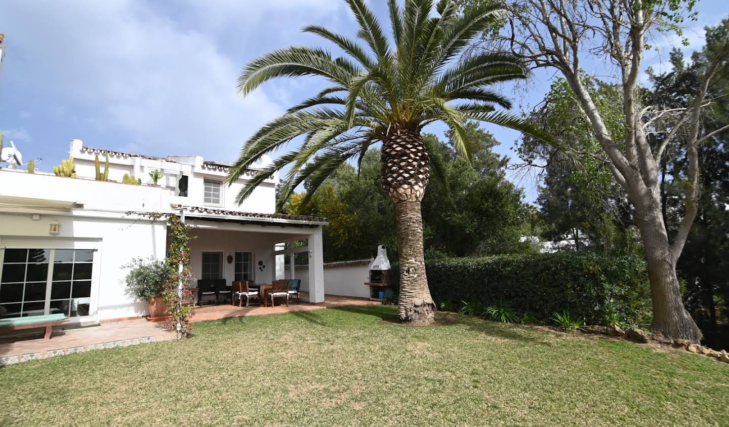
[[[445,180],[431,183],[423,200],[426,246],[449,256],[514,253],[521,245],[523,193],[506,179],[509,159],[494,153],[494,135],[477,123],[465,126],[475,147],[473,159],[456,156],[452,144],[426,134],[441,147]],[[451,132],[446,133],[453,138]]]

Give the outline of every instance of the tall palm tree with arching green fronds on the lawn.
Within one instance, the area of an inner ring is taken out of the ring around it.
[[[496,112],[495,107],[508,109],[511,103],[488,89],[495,83],[526,78],[525,68],[507,53],[466,53],[469,42],[503,18],[504,9],[494,4],[461,14],[453,1],[443,0],[437,4],[437,16],[432,16],[433,0],[405,0],[402,9],[397,0],[389,0],[391,47],[364,0],[346,2],[359,24],[357,36],[368,49],[322,26],[307,26],[303,31],[333,42],[347,56],[333,58],[319,48],[286,47],[252,61],[241,72],[238,91],[243,96],[276,77],[320,76],[331,85],[251,136],[230,168],[227,182],[235,182],[265,153],[300,137],[300,146],[254,174],[237,201],[290,165],[277,209],[308,180],[312,190],[305,204],[338,166],[361,161],[368,147],[381,142],[381,188],[397,216],[398,315],[407,323],[427,324],[434,318],[435,304],[425,273],[421,200],[431,166],[438,175],[440,163],[421,137],[421,129],[444,122],[451,128],[456,150],[467,157],[473,147],[466,137],[465,120],[541,136],[517,117]]]

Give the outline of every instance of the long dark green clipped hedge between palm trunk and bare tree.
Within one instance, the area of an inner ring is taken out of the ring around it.
[[[611,313],[634,323],[650,317],[650,285],[641,258],[597,253],[498,255],[426,261],[430,293],[439,305],[511,301],[519,312],[549,320],[569,311],[601,324]],[[399,272],[394,266],[397,283]]]

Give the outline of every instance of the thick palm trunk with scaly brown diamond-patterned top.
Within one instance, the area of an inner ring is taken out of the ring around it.
[[[400,291],[397,315],[405,323],[427,325],[435,318],[423,255],[423,218],[430,159],[419,129],[394,124],[384,138],[381,188],[395,205]]]

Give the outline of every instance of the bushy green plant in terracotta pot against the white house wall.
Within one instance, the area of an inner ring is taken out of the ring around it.
[[[163,299],[170,275],[167,264],[153,258],[134,258],[125,268],[130,269],[126,278],[127,291],[139,300],[146,299],[149,304],[147,320],[167,319],[167,304]]]

